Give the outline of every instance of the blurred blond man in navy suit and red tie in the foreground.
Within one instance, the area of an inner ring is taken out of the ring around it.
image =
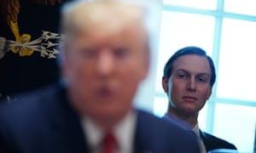
[[[148,9],[76,1],[62,12],[61,74],[0,107],[0,152],[198,153],[195,133],[133,107],[148,76]]]

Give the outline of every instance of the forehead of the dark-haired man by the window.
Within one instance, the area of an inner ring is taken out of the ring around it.
[[[177,58],[174,60],[172,67],[173,71],[184,70],[190,73],[211,73],[207,58],[196,54],[186,54]]]

